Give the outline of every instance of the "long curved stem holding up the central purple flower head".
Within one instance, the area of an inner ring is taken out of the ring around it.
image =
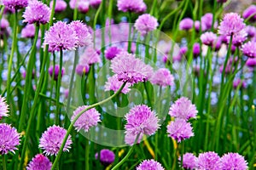
[[[98,102],[98,103],[96,103],[96,104],[93,104],[93,105],[88,106],[86,109],[84,109],[83,111],[80,111],[79,114],[74,117],[73,122],[71,122],[71,124],[69,125],[69,127],[68,127],[68,129],[67,129],[67,133],[66,133],[66,135],[65,135],[65,137],[64,137],[64,139],[63,139],[63,142],[62,142],[62,144],[61,144],[61,148],[60,148],[60,150],[59,150],[59,152],[58,152],[58,154],[57,154],[57,156],[56,156],[56,158],[55,158],[55,161],[54,161],[54,163],[53,163],[53,166],[51,167],[52,170],[54,170],[55,167],[57,166],[57,163],[58,163],[58,161],[59,161],[60,158],[61,158],[61,154],[62,154],[63,148],[64,148],[64,146],[65,146],[65,144],[66,144],[66,142],[67,142],[68,135],[71,133],[71,131],[72,131],[72,129],[73,129],[73,125],[74,125],[74,123],[79,119],[79,117],[80,117],[81,115],[83,115],[83,113],[84,113],[85,111],[88,111],[88,110],[90,110],[90,109],[92,109],[92,108],[95,108],[95,107],[98,106],[98,105],[102,105],[102,104],[108,102],[110,99],[113,99],[115,96],[117,96],[117,95],[121,92],[121,90],[122,90],[123,88],[125,88],[125,84],[126,84],[126,82],[124,82],[123,85],[121,86],[121,88],[119,88],[119,90],[118,90],[115,94],[113,94],[112,96],[108,97],[107,99],[103,99],[102,101],[100,101],[100,102]]]

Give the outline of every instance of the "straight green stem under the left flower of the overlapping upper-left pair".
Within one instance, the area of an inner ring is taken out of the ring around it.
[[[58,81],[57,81],[57,89],[56,89],[56,111],[55,111],[55,116],[56,116],[56,125],[60,124],[60,95],[61,95],[61,72],[62,72],[62,65],[63,65],[63,51],[62,49],[60,50],[60,69],[59,69],[59,74],[58,74]],[[55,74],[55,73],[54,73]]]

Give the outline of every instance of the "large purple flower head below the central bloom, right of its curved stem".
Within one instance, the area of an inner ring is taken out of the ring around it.
[[[155,116],[147,105],[137,105],[125,115],[125,136],[131,135],[131,139],[136,139],[137,135],[152,135],[160,127],[159,119]],[[133,141],[135,142],[135,141]],[[133,143],[132,142],[132,143]]]

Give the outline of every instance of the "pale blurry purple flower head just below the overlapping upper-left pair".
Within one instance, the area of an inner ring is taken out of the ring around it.
[[[98,51],[94,48],[86,48],[84,51],[84,54],[82,54],[80,59],[80,64],[82,65],[93,65],[96,63],[100,63],[102,60],[100,58],[100,55],[98,54]]]

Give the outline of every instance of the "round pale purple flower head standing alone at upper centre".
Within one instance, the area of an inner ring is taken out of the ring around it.
[[[135,28],[143,36],[146,35],[149,31],[154,31],[158,26],[156,18],[150,14],[142,14],[135,21]]]

